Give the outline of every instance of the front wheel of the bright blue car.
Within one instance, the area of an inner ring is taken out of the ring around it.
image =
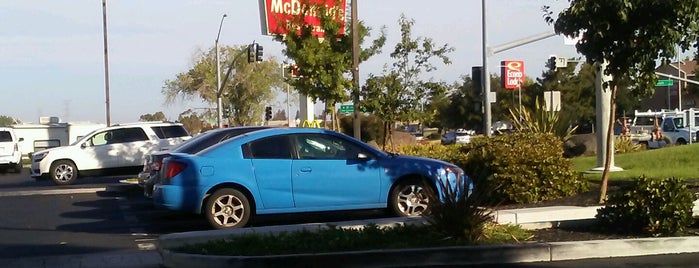
[[[390,194],[389,206],[399,217],[414,217],[425,213],[429,205],[425,183],[418,179],[399,181]]]

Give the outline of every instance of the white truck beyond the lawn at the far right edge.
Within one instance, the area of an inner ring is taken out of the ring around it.
[[[659,148],[669,144],[683,145],[697,142],[699,110],[635,111],[629,126],[631,140]]]

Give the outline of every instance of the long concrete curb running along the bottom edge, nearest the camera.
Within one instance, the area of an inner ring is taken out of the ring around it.
[[[165,267],[418,267],[550,262],[699,252],[699,237],[369,250],[278,256],[206,256],[161,249]]]

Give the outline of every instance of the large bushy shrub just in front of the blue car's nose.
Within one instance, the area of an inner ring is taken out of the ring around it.
[[[560,138],[550,133],[514,133],[468,144],[469,157],[461,166],[487,187],[492,203],[536,203],[587,190],[587,182],[563,158]]]

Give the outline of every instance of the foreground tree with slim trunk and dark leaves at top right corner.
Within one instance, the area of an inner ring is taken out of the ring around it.
[[[602,70],[613,77],[605,85],[611,90],[612,107],[610,131],[614,122],[614,103],[617,86],[622,81],[633,81],[634,90],[650,91],[655,88],[657,59],[674,58],[675,47],[683,51],[697,45],[699,38],[699,1],[665,0],[569,0],[570,7],[554,19],[548,12],[545,19],[554,23],[557,33],[580,35],[578,52],[589,63],[608,62]],[[612,139],[609,139],[610,142]],[[607,144],[607,148],[609,148]],[[611,153],[611,150],[607,150]],[[602,175],[600,203],[606,198],[609,180],[607,155]]]

